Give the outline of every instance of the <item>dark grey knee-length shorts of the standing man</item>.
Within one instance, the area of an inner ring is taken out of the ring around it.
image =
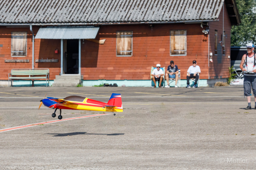
[[[256,76],[244,76],[244,96],[256,96]]]

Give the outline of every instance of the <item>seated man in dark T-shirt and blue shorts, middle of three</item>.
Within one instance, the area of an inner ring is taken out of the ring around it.
[[[178,66],[177,65],[174,65],[174,62],[171,61],[170,62],[171,65],[168,66],[167,68],[167,71],[165,73],[165,79],[166,79],[166,82],[167,82],[167,85],[164,86],[166,88],[170,88],[170,85],[169,85],[169,78],[175,78],[175,87],[178,87],[177,86],[177,82],[178,82]]]

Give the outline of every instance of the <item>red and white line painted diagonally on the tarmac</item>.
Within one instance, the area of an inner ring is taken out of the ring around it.
[[[94,116],[100,116],[100,115],[110,115],[110,114],[88,115],[88,116],[72,117],[72,118],[67,118],[67,119],[62,119],[62,120],[55,120],[55,121],[49,121],[49,122],[41,122],[41,123],[35,123],[35,124],[28,124],[28,125],[24,125],[24,126],[17,126],[17,127],[12,127],[12,128],[0,129],[0,132],[6,132],[6,131],[16,130],[16,129],[23,129],[23,128],[37,126],[37,125],[40,125],[40,124],[48,124],[48,123],[54,123],[54,122],[68,121],[68,120],[73,120],[73,119],[82,119],[82,118],[86,118],[86,117],[94,117]]]

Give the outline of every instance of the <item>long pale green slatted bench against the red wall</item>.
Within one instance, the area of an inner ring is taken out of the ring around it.
[[[11,75],[11,76],[10,76]],[[47,87],[47,78],[49,84],[49,69],[12,69],[11,73],[8,75],[8,84],[10,87],[10,80],[12,86],[12,79],[46,79],[46,87]]]

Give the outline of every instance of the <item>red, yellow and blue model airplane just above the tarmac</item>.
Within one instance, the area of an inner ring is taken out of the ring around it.
[[[97,100],[92,100],[92,99],[81,97],[81,96],[68,96],[64,99],[47,97],[47,99],[43,99],[40,101],[41,103],[39,105],[39,108],[42,106],[42,104],[44,104],[44,106],[49,108],[55,108],[55,111],[52,114],[52,117],[55,117],[56,110],[60,109],[60,115],[58,116],[58,119],[62,119],[61,109],[93,110],[93,111],[113,112],[113,113],[123,112],[121,94],[117,94],[117,93],[112,93],[110,99],[108,100],[108,103],[103,103]]]

